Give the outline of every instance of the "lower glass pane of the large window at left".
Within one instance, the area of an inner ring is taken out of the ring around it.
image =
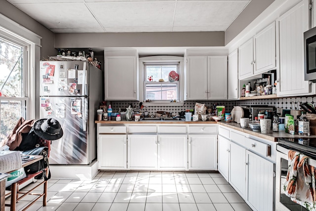
[[[24,102],[24,101],[23,101]],[[0,140],[7,137],[22,114],[24,103],[18,100],[0,100]]]

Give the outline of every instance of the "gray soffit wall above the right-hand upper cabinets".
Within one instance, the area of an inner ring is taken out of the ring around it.
[[[235,21],[225,31],[225,45],[231,42],[258,15],[260,15],[275,0],[251,0]]]

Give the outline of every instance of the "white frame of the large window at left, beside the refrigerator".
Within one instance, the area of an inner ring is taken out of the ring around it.
[[[36,58],[40,48],[41,37],[24,28],[18,23],[0,14],[0,37],[10,42],[17,43],[23,49],[23,96],[0,97],[0,100],[18,100],[25,102],[25,119],[35,119],[35,63],[40,61]],[[24,109],[24,108],[22,108]]]

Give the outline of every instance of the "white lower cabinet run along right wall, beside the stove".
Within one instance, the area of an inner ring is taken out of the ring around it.
[[[274,152],[268,155],[268,148],[275,150],[276,142],[246,136],[219,127],[218,171],[252,210],[273,211],[276,157]]]

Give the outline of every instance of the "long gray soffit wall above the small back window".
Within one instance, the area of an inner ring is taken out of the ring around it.
[[[68,33],[55,35],[56,48],[224,46],[224,32]]]

